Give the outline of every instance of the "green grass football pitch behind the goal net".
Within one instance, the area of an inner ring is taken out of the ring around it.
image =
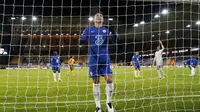
[[[155,68],[142,68],[135,78],[133,68],[113,69],[115,91],[113,105],[117,112],[200,111],[200,68],[190,77],[188,68],[170,70],[159,80]],[[76,69],[76,76],[66,76],[54,83],[52,71],[45,69],[0,70],[0,112],[92,112],[95,105],[88,69]],[[101,79],[101,100],[105,106],[105,81]]]

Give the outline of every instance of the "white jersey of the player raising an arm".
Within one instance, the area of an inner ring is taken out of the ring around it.
[[[162,59],[163,51],[164,51],[164,47],[162,47],[161,50],[155,52],[154,61],[156,61],[157,66],[162,66],[162,64],[163,64],[163,59]]]

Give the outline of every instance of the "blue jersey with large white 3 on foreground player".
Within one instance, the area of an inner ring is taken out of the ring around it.
[[[110,56],[108,52],[109,35],[111,38],[119,38],[118,36],[115,36],[116,33],[112,34],[105,26],[102,26],[101,28],[90,26],[84,30],[80,40],[88,41],[89,43],[90,66],[110,63]]]

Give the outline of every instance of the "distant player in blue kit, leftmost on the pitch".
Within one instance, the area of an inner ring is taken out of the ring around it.
[[[58,80],[61,80],[61,76],[60,76],[60,66],[61,66],[61,62],[60,62],[60,56],[58,56],[58,53],[56,51],[53,52],[53,55],[51,57],[51,67],[53,70],[53,79],[54,82],[56,82],[56,72],[58,72]]]

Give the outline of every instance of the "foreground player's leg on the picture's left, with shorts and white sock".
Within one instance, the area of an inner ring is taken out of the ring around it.
[[[96,104],[95,112],[101,112],[100,103],[100,76],[98,74],[98,66],[89,66],[89,75],[93,82],[93,96]]]

